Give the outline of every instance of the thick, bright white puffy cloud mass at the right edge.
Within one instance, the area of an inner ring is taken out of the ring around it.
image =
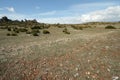
[[[118,21],[120,20],[120,6],[108,7],[105,10],[94,11],[81,16],[82,22]]]

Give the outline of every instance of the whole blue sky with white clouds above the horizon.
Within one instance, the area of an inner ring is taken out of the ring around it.
[[[120,0],[0,0],[0,18],[78,24],[120,21]]]

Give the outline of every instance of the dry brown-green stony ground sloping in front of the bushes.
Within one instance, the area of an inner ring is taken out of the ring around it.
[[[119,29],[69,30],[1,36],[0,80],[120,80]]]

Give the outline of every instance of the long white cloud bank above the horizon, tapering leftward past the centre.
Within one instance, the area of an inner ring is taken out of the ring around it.
[[[119,21],[120,6],[108,7],[104,10],[98,10],[75,17],[43,18],[40,22],[46,23],[83,23],[92,21]]]

